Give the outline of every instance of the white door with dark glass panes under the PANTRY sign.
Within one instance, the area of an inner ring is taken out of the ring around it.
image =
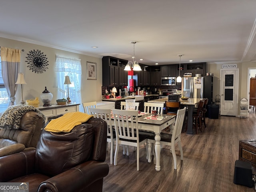
[[[220,115],[238,114],[239,69],[220,70]]]

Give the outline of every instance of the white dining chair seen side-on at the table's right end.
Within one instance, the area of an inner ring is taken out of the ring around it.
[[[183,125],[185,113],[186,113],[186,107],[184,109],[178,110],[172,134],[167,134],[163,132],[161,132],[160,134],[161,136],[160,144],[171,146],[170,152],[172,153],[172,157],[174,161],[174,169],[177,169],[177,157],[175,152],[176,143],[178,143],[178,146],[180,148],[180,160],[183,160],[183,151],[182,151],[182,146],[180,142],[180,135],[182,131],[182,125]],[[149,136],[148,143],[155,143],[155,142],[156,141],[154,139],[154,136]],[[150,153],[151,153],[151,149],[148,148],[148,155],[151,155]]]

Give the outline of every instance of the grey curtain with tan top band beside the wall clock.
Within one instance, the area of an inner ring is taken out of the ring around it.
[[[18,65],[20,64],[20,50],[1,47],[2,77],[4,86],[9,96],[9,106],[15,104],[15,94],[18,77]]]

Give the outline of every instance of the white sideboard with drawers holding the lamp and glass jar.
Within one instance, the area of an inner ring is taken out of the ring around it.
[[[47,122],[48,118],[54,118],[55,116],[68,112],[79,111],[79,105],[80,104],[51,105],[48,107],[39,106],[38,109],[42,112],[42,114],[44,114]]]

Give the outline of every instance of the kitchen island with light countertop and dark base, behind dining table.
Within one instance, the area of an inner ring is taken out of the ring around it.
[[[193,108],[196,107],[199,103],[199,101],[202,100],[202,98],[188,98],[188,100],[182,100],[180,99],[180,105],[184,106],[188,110],[188,129],[186,134],[194,134],[193,131]],[[168,101],[168,98],[161,98],[161,99],[155,99],[155,100],[149,100],[148,102],[152,103],[165,103],[165,101]]]

